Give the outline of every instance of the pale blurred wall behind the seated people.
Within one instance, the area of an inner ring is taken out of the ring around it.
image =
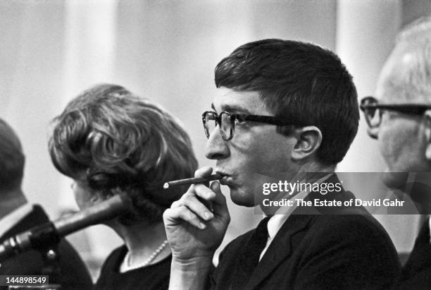
[[[23,141],[25,193],[53,219],[76,209],[70,180],[50,162],[46,135],[68,100],[94,83],[118,83],[161,104],[191,135],[199,164],[211,165],[200,116],[213,99],[215,65],[240,44],[275,37],[327,47],[339,54],[363,97],[374,93],[399,28],[430,13],[430,0],[1,1],[0,118]],[[383,168],[361,118],[337,170]],[[351,187],[360,195],[361,184]],[[260,219],[252,209],[230,204],[230,211],[222,247]],[[400,252],[411,250],[419,217],[377,219]],[[104,226],[69,239],[95,271],[120,244]]]

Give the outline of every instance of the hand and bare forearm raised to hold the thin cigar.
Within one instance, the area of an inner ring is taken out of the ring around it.
[[[204,167],[194,176],[205,177],[211,171],[211,167]],[[214,181],[211,188],[204,184],[190,186],[165,210],[163,222],[172,250],[169,289],[205,289],[214,251],[230,222],[220,183]]]

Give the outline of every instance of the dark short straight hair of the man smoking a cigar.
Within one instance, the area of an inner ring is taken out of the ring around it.
[[[246,43],[215,67],[215,85],[258,91],[275,116],[323,135],[322,164],[340,162],[358,131],[356,87],[339,57],[317,45],[292,40]]]

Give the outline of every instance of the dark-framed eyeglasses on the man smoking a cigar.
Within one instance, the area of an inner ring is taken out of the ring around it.
[[[204,111],[204,114],[202,114],[202,122],[204,123],[206,138],[209,138],[211,132],[216,126],[219,126],[220,135],[223,140],[230,140],[235,132],[235,123],[243,121],[268,123],[277,126],[295,125],[294,121],[280,119],[275,116],[230,114],[227,113],[227,111],[222,111],[219,115],[215,113],[215,111]]]

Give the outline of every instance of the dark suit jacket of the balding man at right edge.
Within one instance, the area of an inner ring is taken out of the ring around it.
[[[431,289],[431,243],[428,219],[423,223],[396,289]]]

